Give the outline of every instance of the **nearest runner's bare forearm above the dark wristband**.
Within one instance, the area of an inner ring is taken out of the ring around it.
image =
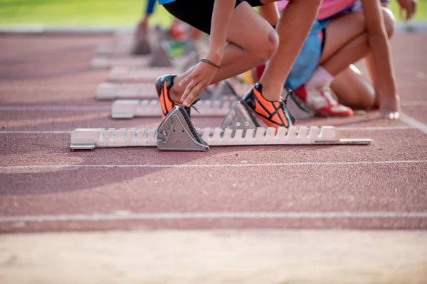
[[[208,58],[216,65],[220,65],[223,58],[234,6],[236,6],[236,0],[215,0],[214,2]]]

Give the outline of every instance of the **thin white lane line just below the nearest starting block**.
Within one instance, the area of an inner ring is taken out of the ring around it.
[[[169,165],[6,165],[0,170],[25,170],[43,168],[249,168],[249,167],[275,167],[295,165],[386,165],[386,164],[411,164],[427,163],[427,160],[376,160],[355,162],[297,162],[297,163],[257,163],[257,164],[169,164]]]

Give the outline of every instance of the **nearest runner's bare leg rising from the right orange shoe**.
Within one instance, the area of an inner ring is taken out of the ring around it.
[[[283,11],[276,28],[279,35],[278,50],[268,62],[260,79],[265,99],[280,100],[286,78],[307,38],[320,2],[320,0],[293,0]]]

